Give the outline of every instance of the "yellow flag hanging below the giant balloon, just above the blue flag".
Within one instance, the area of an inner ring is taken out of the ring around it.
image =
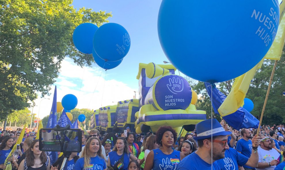
[[[242,106],[251,80],[253,79],[258,66],[261,62],[263,62],[263,60],[264,58],[248,72],[244,73],[240,77],[235,78],[231,92],[222,103],[222,105],[218,108],[218,111],[222,117],[232,114]]]

